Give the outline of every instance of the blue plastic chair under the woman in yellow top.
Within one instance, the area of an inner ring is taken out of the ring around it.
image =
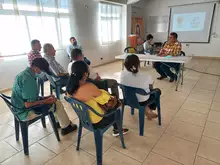
[[[97,158],[97,165],[102,165],[102,141],[103,141],[103,134],[106,132],[106,130],[112,126],[114,123],[117,124],[118,129],[119,129],[119,134],[120,134],[120,139],[121,139],[121,144],[123,148],[125,147],[124,144],[124,137],[122,133],[122,117],[121,117],[121,111],[119,109],[116,110],[111,110],[108,113],[102,115],[96,112],[93,108],[90,106],[78,101],[77,99],[74,98],[69,98],[69,97],[64,97],[67,102],[69,102],[76,112],[77,116],[79,117],[79,130],[78,130],[78,140],[77,140],[77,147],[76,150],[79,150],[80,146],[80,139],[81,139],[81,134],[82,134],[82,128],[84,127],[85,129],[91,131],[94,133],[94,138],[95,138],[95,145],[96,145],[96,158]],[[90,120],[89,112],[88,110],[92,111],[96,115],[100,117],[108,117],[110,115],[115,114],[115,120],[112,121],[108,126],[106,126],[103,129],[95,129],[93,127],[93,124]]]

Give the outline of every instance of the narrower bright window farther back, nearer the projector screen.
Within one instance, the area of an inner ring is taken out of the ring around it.
[[[100,40],[101,44],[111,44],[121,40],[122,6],[100,3]]]

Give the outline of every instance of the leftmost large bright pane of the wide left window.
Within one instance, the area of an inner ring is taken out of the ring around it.
[[[15,55],[30,49],[24,16],[0,15],[0,52],[2,55]]]

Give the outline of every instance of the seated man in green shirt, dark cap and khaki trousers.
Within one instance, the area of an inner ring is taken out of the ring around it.
[[[19,109],[15,109],[21,120],[31,120],[47,111],[52,111],[56,105],[56,116],[62,128],[61,134],[66,135],[77,129],[77,125],[72,124],[67,116],[62,103],[53,95],[40,98],[36,83],[36,75],[42,72],[50,74],[49,64],[44,58],[36,58],[32,61],[31,66],[16,76],[12,88],[12,104]],[[55,105],[54,105],[55,104]],[[33,108],[33,106],[45,105],[43,107]]]

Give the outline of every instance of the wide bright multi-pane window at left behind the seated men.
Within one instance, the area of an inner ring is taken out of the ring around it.
[[[0,56],[26,54],[32,39],[62,49],[70,37],[70,0],[0,0]]]

